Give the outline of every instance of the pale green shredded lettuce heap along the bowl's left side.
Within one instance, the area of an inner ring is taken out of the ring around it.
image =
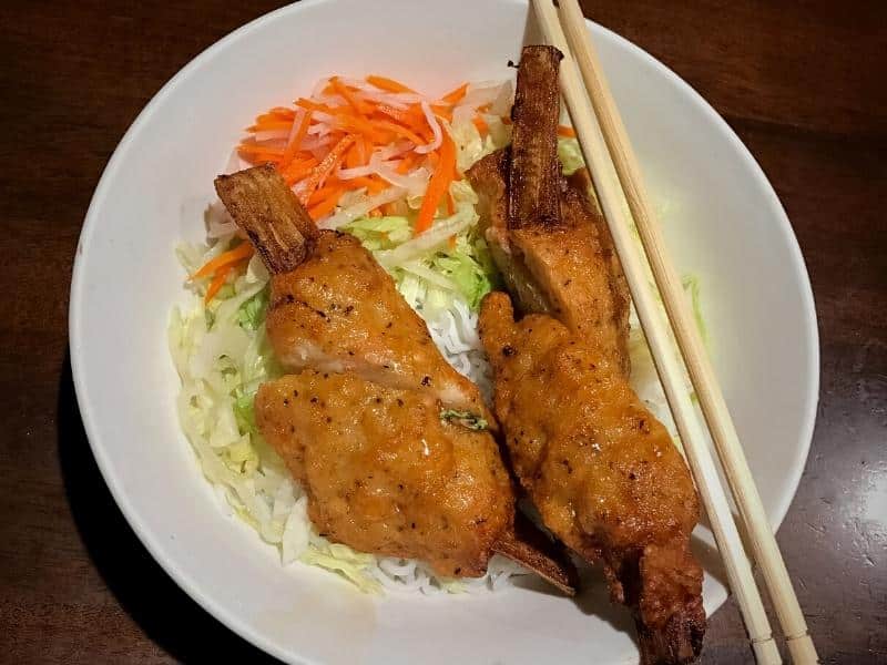
[[[223,252],[213,247],[177,249],[188,273]],[[375,557],[329,543],[310,524],[307,498],[255,422],[259,385],[283,375],[265,334],[268,274],[258,258],[226,285],[226,298],[206,306],[206,285],[188,283],[188,305],[175,308],[169,327],[170,351],[182,381],[179,419],[204,475],[232,511],[266,542],[281,549],[284,563],[303,561],[341,574],[366,592],[380,586],[371,574]]]

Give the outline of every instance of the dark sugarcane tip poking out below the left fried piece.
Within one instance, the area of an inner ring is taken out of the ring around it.
[[[502,533],[493,552],[531,570],[567,595],[575,595],[579,575],[562,549],[548,540],[522,513],[514,515],[514,529]]]

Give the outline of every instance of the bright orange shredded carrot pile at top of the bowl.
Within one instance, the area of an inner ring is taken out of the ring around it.
[[[374,74],[365,80],[378,91],[391,95],[418,94],[400,81],[386,76]],[[377,173],[339,181],[339,167],[359,168],[368,165],[374,151],[378,149],[387,152],[395,147],[400,152],[405,140],[416,146],[429,145],[435,135],[434,120],[429,123],[425,114],[428,106],[416,99],[401,98],[405,104],[394,101],[396,96],[390,96],[392,101],[389,102],[386,99],[388,95],[364,99],[367,95],[361,93],[361,84],[349,84],[341,76],[330,76],[322,82],[322,88],[317,96],[294,100],[294,108],[275,106],[257,115],[254,124],[247,129],[253,136],[247,136],[237,146],[238,154],[253,164],[276,165],[314,219],[334,212],[346,193],[364,188],[368,195],[376,195],[391,186]],[[462,83],[430,104],[431,113],[441,121],[452,122],[453,108],[465,99],[467,92],[468,83]],[[489,111],[489,106],[487,104],[482,110]],[[475,124],[482,134],[489,133],[483,117],[477,117]],[[273,136],[278,137],[265,140]],[[456,168],[456,146],[449,134],[445,132],[442,144],[437,150],[427,154],[408,150],[398,158],[396,172],[399,175],[407,175],[419,166],[432,172],[419,211],[416,233],[430,227],[437,214],[455,213],[456,204],[449,193],[449,184],[463,176]],[[402,205],[390,203],[369,214],[391,215],[400,209]],[[237,267],[238,260],[248,259],[248,256],[237,259],[231,254],[235,250],[252,254],[248,244],[245,247],[238,245],[214,259],[216,263],[211,262],[202,267],[195,276],[212,277],[222,268],[226,268],[227,273]]]

